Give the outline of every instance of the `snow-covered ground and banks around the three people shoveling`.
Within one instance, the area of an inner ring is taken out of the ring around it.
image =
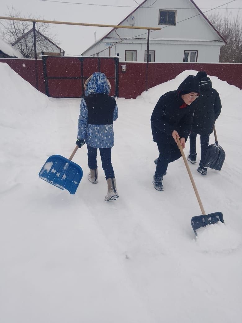
[[[38,178],[48,156],[68,158],[75,148],[80,99],[48,99],[0,64],[2,322],[241,322],[241,90],[211,77],[226,160],[205,177],[190,165],[205,211],[221,211],[225,225],[195,238],[191,218],[201,211],[182,158],[169,165],[164,192],[152,185],[151,113],[163,93],[196,73],[117,99],[112,162],[120,197],[105,203],[100,157],[92,185],[86,146],[73,158],[84,172],[75,195]]]

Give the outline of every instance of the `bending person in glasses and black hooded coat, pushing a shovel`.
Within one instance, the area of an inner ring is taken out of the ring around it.
[[[169,162],[181,157],[177,146],[177,137],[182,148],[189,136],[194,114],[194,100],[200,94],[199,81],[189,75],[176,91],[170,91],[160,97],[151,116],[153,140],[159,150],[155,160],[156,172],[153,185],[157,191],[163,191],[163,176]]]

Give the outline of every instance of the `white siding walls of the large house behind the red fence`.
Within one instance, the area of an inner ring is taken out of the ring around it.
[[[148,7],[152,3],[154,3],[154,0],[147,0],[144,6]],[[174,8],[174,10],[177,10],[176,26],[168,26],[161,31],[150,32],[149,50],[156,51],[156,62],[183,62],[184,50],[198,50],[198,62],[218,62],[220,46],[224,43],[203,16],[199,15],[178,23],[178,21],[199,13],[197,9],[194,9],[191,1],[158,0],[153,6],[156,8],[139,8],[132,14],[135,17],[135,26],[165,27],[164,25],[158,25],[159,9],[157,8]],[[176,9],[182,7],[190,9]],[[129,19],[125,20],[121,25],[129,26]],[[116,32],[121,38],[136,37],[137,35],[144,34],[139,37],[147,39],[147,30],[120,28]],[[99,51],[99,56],[109,56],[108,48],[101,52],[107,47],[105,43],[115,44],[120,41],[120,38],[117,37],[115,31],[107,37],[101,43],[97,43],[94,47],[88,49],[84,56],[93,55]],[[154,38],[157,39],[155,40]],[[122,62],[125,61],[125,50],[136,50],[136,61],[144,62],[145,50],[147,49],[146,39],[124,40],[111,48],[111,56],[119,53],[120,61]]]

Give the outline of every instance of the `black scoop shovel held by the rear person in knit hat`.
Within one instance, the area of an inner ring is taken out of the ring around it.
[[[215,126],[213,126],[213,131],[215,136],[215,144],[209,145],[207,147],[203,167],[221,171],[221,168],[225,160],[225,151],[221,146],[218,145]]]

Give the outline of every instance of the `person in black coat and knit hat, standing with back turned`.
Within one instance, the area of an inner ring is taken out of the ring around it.
[[[201,95],[195,102],[195,112],[193,117],[192,132],[190,133],[190,153],[187,160],[192,164],[196,163],[196,138],[200,135],[201,141],[201,160],[197,169],[202,175],[207,174],[207,169],[203,167],[205,154],[208,147],[209,135],[213,132],[215,120],[221,112],[221,101],[218,92],[212,88],[212,82],[207,77],[206,72],[198,72]]]

